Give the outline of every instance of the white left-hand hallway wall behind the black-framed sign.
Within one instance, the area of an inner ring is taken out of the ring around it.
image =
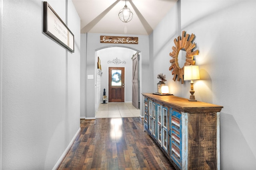
[[[80,18],[71,0],[48,3],[75,53],[42,33],[42,1],[3,0],[3,170],[54,168],[80,129]]]

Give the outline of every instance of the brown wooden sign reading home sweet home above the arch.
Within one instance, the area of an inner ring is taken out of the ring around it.
[[[138,44],[138,37],[100,36],[100,43]]]

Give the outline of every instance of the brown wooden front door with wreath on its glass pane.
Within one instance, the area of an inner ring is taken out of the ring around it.
[[[124,102],[124,67],[108,68],[108,102]]]

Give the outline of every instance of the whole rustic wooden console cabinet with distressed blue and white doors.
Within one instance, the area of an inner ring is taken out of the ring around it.
[[[220,170],[222,106],[144,93],[147,131],[176,169]]]

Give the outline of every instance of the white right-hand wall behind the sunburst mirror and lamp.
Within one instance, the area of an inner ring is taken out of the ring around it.
[[[150,35],[154,42],[153,83],[158,82],[157,74],[164,73],[170,92],[184,98],[190,96],[190,84],[172,80],[167,70],[169,53],[181,31],[196,35],[199,55],[195,60],[201,76],[194,84],[196,99],[224,106],[220,113],[223,170],[256,167],[255,7],[252,0],[181,0]]]

